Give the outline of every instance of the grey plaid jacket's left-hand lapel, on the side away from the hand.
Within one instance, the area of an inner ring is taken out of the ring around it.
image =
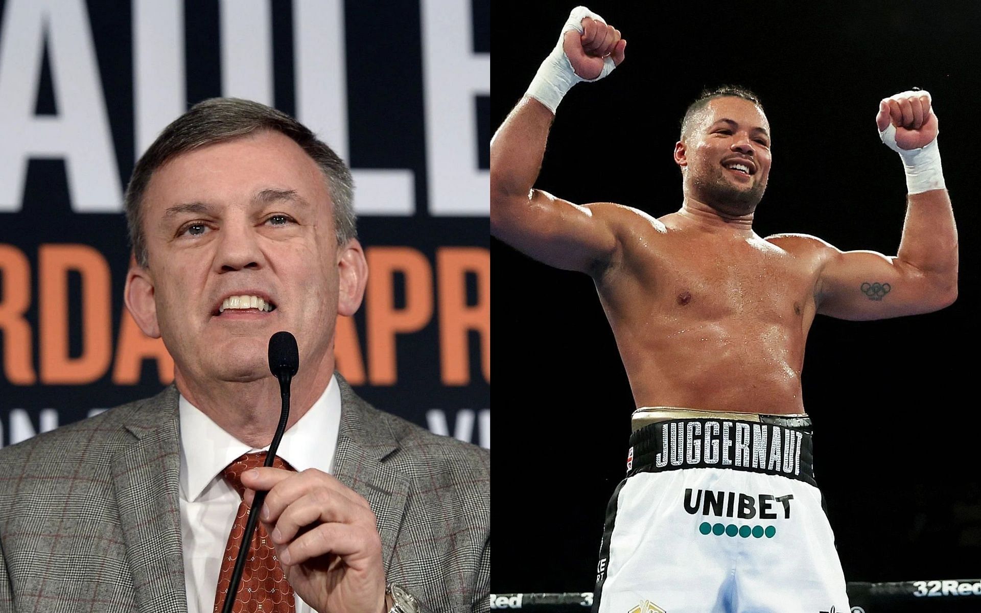
[[[177,389],[168,387],[149,399],[127,429],[135,438],[113,459],[113,485],[136,609],[186,613]]]

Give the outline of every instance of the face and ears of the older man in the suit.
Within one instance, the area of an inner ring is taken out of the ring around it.
[[[268,377],[281,330],[296,336],[301,369],[333,358],[336,316],[357,309],[364,286],[352,275],[361,247],[337,246],[333,207],[320,169],[277,131],[177,156],[144,195],[149,264],[130,273],[130,311],[198,382]]]

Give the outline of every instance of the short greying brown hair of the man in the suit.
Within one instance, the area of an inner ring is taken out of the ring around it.
[[[146,267],[149,262],[143,232],[142,203],[154,171],[182,153],[263,130],[276,130],[289,136],[324,173],[334,202],[337,244],[344,245],[357,238],[354,179],[347,165],[331,147],[282,111],[239,98],[210,98],[198,102],[164,128],[132,169],[125,201],[129,243],[137,264]]]

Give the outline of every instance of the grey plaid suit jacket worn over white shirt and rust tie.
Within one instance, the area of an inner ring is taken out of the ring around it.
[[[338,375],[335,476],[378,518],[387,580],[488,610],[490,453],[359,398]],[[186,613],[172,385],[0,449],[0,611]]]

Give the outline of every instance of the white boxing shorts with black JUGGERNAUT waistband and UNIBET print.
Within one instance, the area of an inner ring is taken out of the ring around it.
[[[848,613],[806,416],[641,409],[594,613]]]

